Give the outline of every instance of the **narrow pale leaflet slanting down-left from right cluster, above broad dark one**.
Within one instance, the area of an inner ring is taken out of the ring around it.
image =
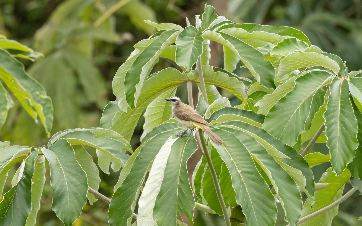
[[[266,94],[261,100],[256,102],[254,106],[259,107],[258,113],[267,115],[274,104],[294,88],[295,79],[298,77],[299,76],[291,77],[288,81],[279,85],[272,94]]]

